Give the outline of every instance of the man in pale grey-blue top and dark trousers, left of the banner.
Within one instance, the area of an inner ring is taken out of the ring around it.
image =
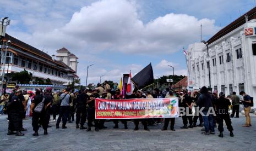
[[[61,94],[61,108],[59,109],[59,117],[57,119],[56,123],[56,129],[59,128],[59,123],[61,123],[61,119],[63,118],[63,123],[62,123],[62,129],[67,129],[66,124],[67,124],[67,119],[69,115],[69,110],[70,110],[70,104],[72,102],[72,98],[69,95],[70,88],[66,88],[66,91]]]

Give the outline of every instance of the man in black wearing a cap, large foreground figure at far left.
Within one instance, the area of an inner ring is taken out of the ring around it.
[[[13,131],[16,131],[16,136],[24,136],[24,133],[20,132],[22,129],[21,123],[24,109],[24,106],[19,98],[21,92],[22,91],[20,89],[16,90],[15,95],[12,96],[8,105],[9,130],[7,135],[13,135],[15,134]]]

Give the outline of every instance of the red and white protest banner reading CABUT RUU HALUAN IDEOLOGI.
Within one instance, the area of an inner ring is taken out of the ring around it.
[[[106,100],[96,98],[96,119],[177,118],[178,98],[134,98]]]

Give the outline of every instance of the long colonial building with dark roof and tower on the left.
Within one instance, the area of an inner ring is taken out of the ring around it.
[[[7,80],[12,80],[11,77],[8,77],[8,73],[20,72],[24,69],[32,73],[29,84],[33,84],[35,78],[43,80],[49,78],[55,86],[62,86],[74,79],[79,79],[76,74],[78,57],[70,54],[66,48],[57,50],[57,59],[55,59],[55,55],[50,56],[8,34],[4,40],[10,40],[10,43],[8,44],[6,62],[1,65],[0,73],[2,75],[3,66],[5,66],[4,72],[7,75]]]

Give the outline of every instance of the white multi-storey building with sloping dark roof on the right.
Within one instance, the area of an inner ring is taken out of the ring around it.
[[[222,91],[226,95],[245,91],[256,98],[256,7],[246,14],[207,41],[209,57],[204,43],[189,45],[188,88],[210,86],[209,61],[213,91]]]

